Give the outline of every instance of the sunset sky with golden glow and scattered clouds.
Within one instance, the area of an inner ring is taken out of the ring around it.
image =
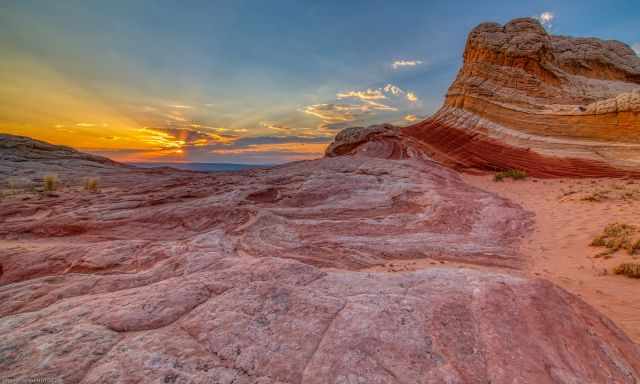
[[[467,33],[516,17],[640,52],[637,0],[2,0],[0,132],[130,162],[317,158],[435,112]]]

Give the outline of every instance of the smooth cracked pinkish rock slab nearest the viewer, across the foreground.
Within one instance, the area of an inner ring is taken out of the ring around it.
[[[322,272],[277,258],[218,259],[134,289],[116,283],[135,278],[66,275],[57,285],[85,290],[2,318],[3,374],[100,384],[639,379],[637,346],[540,280],[449,268]]]

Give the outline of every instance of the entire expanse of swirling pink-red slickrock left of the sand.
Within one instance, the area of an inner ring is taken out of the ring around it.
[[[640,380],[638,345],[518,272],[527,212],[392,127],[341,140],[360,150],[226,174],[108,165],[97,194],[74,186],[79,167],[55,195],[5,197],[0,379]],[[424,258],[434,265],[360,272]]]

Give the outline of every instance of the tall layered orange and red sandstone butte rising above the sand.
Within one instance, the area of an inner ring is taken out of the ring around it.
[[[640,57],[534,19],[480,24],[444,106],[402,133],[456,168],[640,176]]]

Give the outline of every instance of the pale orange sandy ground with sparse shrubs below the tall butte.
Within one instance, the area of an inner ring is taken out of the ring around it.
[[[620,263],[640,262],[640,255],[634,258],[626,251],[618,251],[610,258],[597,257],[604,248],[589,245],[611,223],[636,225],[640,230],[640,181],[508,179],[495,182],[493,176],[487,175],[463,175],[463,178],[535,214],[534,227],[521,243],[521,252],[529,261],[525,274],[549,279],[578,295],[640,343],[640,279],[612,272]],[[393,273],[442,264],[488,268],[422,259],[392,260],[365,271]]]

